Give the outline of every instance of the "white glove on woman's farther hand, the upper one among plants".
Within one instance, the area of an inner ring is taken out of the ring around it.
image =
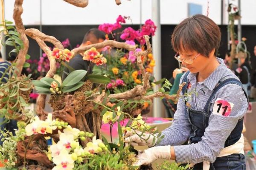
[[[136,133],[141,135],[142,132],[140,132],[139,130],[136,130]],[[136,133],[134,130],[127,131],[125,133],[125,141],[124,142],[125,142],[126,146],[130,143],[132,146],[139,145],[139,146],[152,147],[157,143],[157,137],[154,137],[150,133],[144,132],[141,137],[139,135],[137,135]],[[157,133],[155,135],[157,136]]]

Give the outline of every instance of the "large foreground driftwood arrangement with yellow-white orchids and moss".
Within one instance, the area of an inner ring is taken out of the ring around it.
[[[22,1],[16,0],[15,9],[22,8],[21,6]],[[14,111],[20,114],[19,118],[21,119],[15,132],[16,136],[9,132],[3,133],[4,142],[3,147],[0,147],[0,161],[4,166],[28,170],[135,170],[140,168],[133,166],[136,161],[137,151],[133,147],[125,146],[123,139],[125,133],[128,130],[139,130],[141,138],[143,138],[143,133],[152,133],[157,142],[160,142],[163,136],[161,133],[157,133],[154,127],[148,126],[140,115],[136,118],[127,113],[126,110],[136,108],[138,104],[154,97],[164,96],[177,101],[179,92],[184,85],[180,85],[177,95],[169,96],[162,88],[156,93],[147,94],[150,88],[150,75],[143,67],[142,59],[145,58],[142,56],[148,56],[151,53],[149,37],[147,35],[144,36],[147,49],[145,51],[142,49],[133,54],[136,57],[140,73],[139,71],[134,73],[132,79],[141,77],[142,85],[138,84],[133,89],[120,94],[110,94],[109,91],[105,90],[108,83],[111,82],[108,74],[107,77],[93,74],[87,75],[87,71],[77,70],[72,71],[60,82],[53,78],[57,70],[56,63],[68,62],[78,53],[83,53],[84,59],[95,63],[96,67],[107,64],[109,62],[108,59],[97,53],[93,46],[90,46],[90,48],[78,47],[70,51],[64,48],[64,45],[60,45],[57,39],[52,40],[51,36],[44,35],[37,29],[27,29],[25,34],[25,30],[20,29],[24,28],[22,22],[19,22],[21,20],[20,13],[17,10],[14,12],[13,16],[15,16],[15,23],[18,24],[18,32],[24,36],[16,36],[16,39],[19,37],[20,39],[19,41],[13,41],[13,43],[19,42],[20,46],[23,45],[23,48],[15,48],[21,60],[17,60],[17,63],[7,69],[7,71],[11,69],[12,73],[15,74],[13,76],[7,74],[9,79],[6,79],[5,84],[0,85],[0,92],[2,92],[0,93],[0,101],[1,104],[5,102],[3,108],[0,109],[3,111],[1,112],[3,116],[9,115],[8,119],[14,118],[14,115],[11,114]],[[21,69],[19,70],[19,68],[29,65],[29,63],[24,63],[25,53],[28,49],[26,35],[35,40],[41,40],[38,44],[49,59],[49,71],[40,80],[31,81],[30,77],[20,77]],[[44,35],[45,41],[49,41],[58,47],[51,50],[42,41],[42,35]],[[141,40],[141,42],[143,41]],[[9,42],[9,44],[13,43]],[[113,45],[128,51],[136,50],[133,45],[122,42],[107,41],[96,46],[97,48],[104,48],[106,45]],[[19,51],[19,49],[22,49],[22,51]],[[59,70],[62,72],[61,67]],[[3,75],[7,71],[3,72]],[[112,73],[119,74],[119,71],[120,68],[116,67]],[[0,77],[0,81],[2,79],[3,76]],[[94,86],[93,83],[95,83]],[[119,81],[117,83],[122,84]],[[38,116],[34,116],[33,113],[28,114],[24,109],[27,101],[23,96],[28,96],[27,94],[30,93],[33,86],[39,93],[35,110]],[[105,87],[105,89],[102,87]],[[52,97],[49,101],[52,103],[54,110],[52,113],[44,111],[46,94],[50,94]],[[88,113],[91,113],[92,117],[87,120],[85,115]],[[124,119],[129,119],[129,121],[121,125],[120,122]],[[90,129],[87,121],[92,122],[93,130]],[[100,130],[102,121],[109,124],[117,122],[119,134],[117,144],[109,143],[102,136]]]

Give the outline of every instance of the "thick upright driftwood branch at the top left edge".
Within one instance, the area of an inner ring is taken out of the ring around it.
[[[21,14],[23,13],[22,8],[23,0],[15,0],[14,10],[13,10],[13,19],[15,21],[15,26],[17,29],[17,32],[20,34],[20,39],[23,42],[23,48],[20,48],[19,54],[17,55],[17,68],[19,72],[17,72],[17,75],[21,74],[23,65],[26,61],[26,54],[28,52],[29,48],[29,40],[26,37],[25,34],[25,27],[23,26],[23,22],[21,19]]]

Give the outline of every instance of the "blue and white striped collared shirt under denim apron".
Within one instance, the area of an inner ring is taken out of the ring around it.
[[[189,104],[193,110],[203,111],[207,99],[212,94],[212,90],[217,83],[227,78],[238,79],[224,64],[223,59],[217,58],[220,65],[212,74],[204,80],[197,82],[196,74],[189,73],[188,79],[191,88],[187,90],[196,91],[192,94]],[[184,77],[184,75],[183,75]],[[181,77],[180,82],[182,82]],[[199,163],[202,161],[214,162],[218,154],[224,148],[224,143],[231,131],[235,128],[239,119],[241,119],[248,107],[247,98],[239,85],[229,84],[222,87],[210,104],[210,111],[213,110],[214,102],[217,98],[224,99],[234,104],[230,116],[211,114],[209,116],[209,125],[205,129],[202,141],[196,144],[180,145],[189,138],[192,126],[186,116],[184,99],[180,98],[177,103],[173,124],[163,130],[164,138],[158,144],[174,146],[176,161],[180,163]],[[180,146],[179,146],[180,145]]]

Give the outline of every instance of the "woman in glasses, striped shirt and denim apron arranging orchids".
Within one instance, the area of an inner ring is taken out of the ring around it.
[[[247,96],[239,79],[216,57],[220,40],[218,26],[201,14],[176,26],[172,34],[175,58],[189,69],[180,81],[186,82],[181,94],[196,93],[179,99],[173,124],[163,130],[164,138],[157,146],[150,134],[141,139],[127,133],[125,142],[151,147],[139,156],[137,165],[173,159],[191,163],[193,170],[245,170],[241,132]]]

